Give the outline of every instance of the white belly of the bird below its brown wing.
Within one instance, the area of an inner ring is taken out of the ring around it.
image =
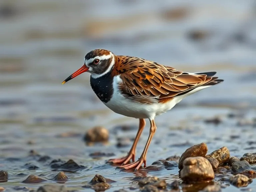
[[[119,76],[114,77],[113,96],[110,101],[108,101],[107,103],[103,103],[112,111],[121,115],[139,119],[154,119],[155,116],[172,109],[177,103],[182,100],[182,97],[176,97],[167,103],[144,104],[134,102],[122,96],[121,93],[118,91],[118,84],[120,80],[121,79],[119,78]]]

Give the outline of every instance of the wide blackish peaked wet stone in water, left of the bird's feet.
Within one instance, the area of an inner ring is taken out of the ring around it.
[[[86,167],[83,165],[78,165],[75,161],[73,161],[72,159],[68,160],[66,163],[64,164],[60,164],[60,163],[53,163],[51,164],[51,169],[53,171],[77,171],[80,169],[85,169]]]

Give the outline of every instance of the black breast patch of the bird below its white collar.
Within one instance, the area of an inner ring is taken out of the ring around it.
[[[95,79],[91,76],[90,83],[92,90],[102,102],[107,103],[110,101],[114,91],[111,72]]]

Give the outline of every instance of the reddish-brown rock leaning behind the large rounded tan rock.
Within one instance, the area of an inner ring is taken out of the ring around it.
[[[194,145],[192,147],[189,147],[180,157],[179,160],[179,169],[183,168],[183,161],[188,157],[204,157],[207,153],[207,145],[205,143],[200,143],[198,145]]]

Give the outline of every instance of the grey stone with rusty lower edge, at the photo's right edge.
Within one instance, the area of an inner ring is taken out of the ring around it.
[[[256,166],[252,166],[248,161],[237,161],[232,164],[231,173],[238,174],[242,173],[245,175],[256,174]]]

